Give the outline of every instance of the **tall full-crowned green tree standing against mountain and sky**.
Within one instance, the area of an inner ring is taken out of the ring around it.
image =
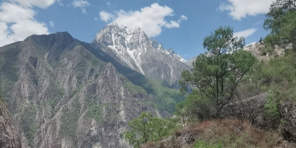
[[[256,58],[241,50],[245,46],[243,37],[233,35],[233,28],[220,27],[204,38],[207,53],[199,55],[191,71],[183,71],[179,84],[185,93],[187,86],[198,90],[199,96],[210,100],[217,113],[233,98],[240,82],[249,80]]]

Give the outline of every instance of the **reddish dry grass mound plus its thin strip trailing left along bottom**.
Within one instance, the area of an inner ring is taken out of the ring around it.
[[[270,148],[279,146],[282,142],[276,133],[257,129],[249,121],[226,118],[192,122],[186,128],[176,131],[172,138],[148,143],[143,148],[194,147],[195,142],[182,143],[182,137],[189,134],[193,135],[195,140],[213,144],[221,143],[227,148]]]

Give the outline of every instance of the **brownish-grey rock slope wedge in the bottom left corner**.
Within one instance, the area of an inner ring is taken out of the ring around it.
[[[0,96],[0,147],[21,148],[21,140],[14,121]]]

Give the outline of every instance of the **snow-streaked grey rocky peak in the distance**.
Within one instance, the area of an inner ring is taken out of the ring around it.
[[[107,46],[103,52],[123,65],[149,78],[164,80],[168,85],[177,86],[182,70],[189,69],[181,56],[148,38],[140,28],[111,23],[96,35],[92,44],[97,43]]]

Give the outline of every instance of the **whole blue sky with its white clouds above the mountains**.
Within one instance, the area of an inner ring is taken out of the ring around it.
[[[247,37],[246,44],[257,42],[268,33],[262,24],[272,0],[5,0],[0,3],[0,46],[32,34],[63,31],[90,42],[106,24],[116,21],[128,27],[143,27],[165,48],[173,48],[175,53],[189,59],[205,52],[203,38],[220,26],[233,27],[234,32],[240,32],[235,35]]]

